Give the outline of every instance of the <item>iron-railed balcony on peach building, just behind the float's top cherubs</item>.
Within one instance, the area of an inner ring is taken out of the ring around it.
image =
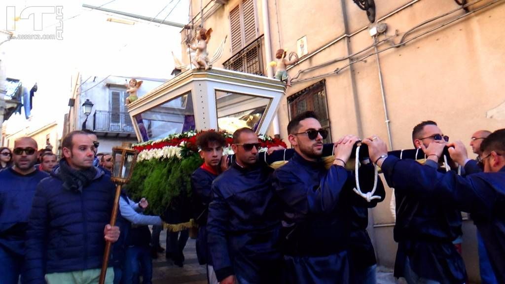
[[[265,67],[263,64],[262,39],[263,36],[247,44],[245,48],[223,63],[224,68],[263,76]]]

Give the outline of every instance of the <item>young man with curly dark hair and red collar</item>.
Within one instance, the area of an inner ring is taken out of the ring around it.
[[[198,223],[196,256],[199,264],[207,264],[207,281],[210,284],[217,284],[218,280],[207,245],[207,216],[209,215],[209,203],[212,201],[212,182],[228,166],[226,159],[223,161],[225,143],[223,135],[215,131],[207,131],[198,136],[196,145],[200,150],[200,157],[204,160],[204,163],[191,175],[194,219]]]

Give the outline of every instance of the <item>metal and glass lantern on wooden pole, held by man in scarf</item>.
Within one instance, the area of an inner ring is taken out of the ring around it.
[[[112,148],[112,177],[111,180],[116,183],[116,196],[114,198],[114,207],[111,215],[111,226],[116,224],[119,207],[119,196],[121,194],[121,185],[128,183],[133,172],[133,167],[137,161],[137,150],[131,149],[127,145]],[[109,255],[111,253],[111,243],[105,245],[104,260],[102,262],[102,271],[100,271],[99,284],[105,283],[107,273],[107,264],[109,263]]]

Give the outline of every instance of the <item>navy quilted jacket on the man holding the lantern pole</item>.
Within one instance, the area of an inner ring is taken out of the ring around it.
[[[96,170],[82,192],[65,190],[59,169],[37,185],[28,220],[27,283],[45,283],[46,273],[102,266],[115,185],[103,170]]]

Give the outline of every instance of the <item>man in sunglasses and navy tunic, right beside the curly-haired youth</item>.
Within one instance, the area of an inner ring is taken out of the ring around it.
[[[236,130],[235,160],[212,183],[207,242],[221,284],[280,282],[280,220],[273,170],[257,163],[259,147],[253,130]]]

